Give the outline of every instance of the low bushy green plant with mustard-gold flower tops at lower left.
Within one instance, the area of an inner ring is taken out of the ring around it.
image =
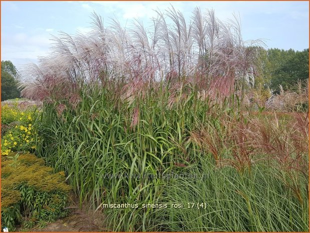
[[[14,155],[11,153],[10,155]],[[34,225],[66,216],[68,192],[64,173],[54,173],[33,154],[2,156],[2,227]]]

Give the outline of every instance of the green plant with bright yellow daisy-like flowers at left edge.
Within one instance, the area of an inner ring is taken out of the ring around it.
[[[2,124],[7,126],[5,132],[2,132],[2,155],[9,155],[11,151],[34,152],[36,143],[40,141],[33,126],[36,114],[38,110],[35,109],[20,109],[18,101],[10,106],[1,106]]]

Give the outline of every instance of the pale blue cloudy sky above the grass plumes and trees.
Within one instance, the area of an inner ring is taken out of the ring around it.
[[[308,2],[1,2],[1,59],[11,60],[19,69],[36,63],[59,31],[87,33],[93,11],[104,18],[116,16],[122,25],[139,17],[144,25],[170,4],[190,20],[198,6],[202,12],[214,9],[221,20],[239,14],[244,40],[265,39],[267,48],[303,50],[309,41]]]

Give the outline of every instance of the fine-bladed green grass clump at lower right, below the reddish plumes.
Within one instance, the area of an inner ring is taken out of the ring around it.
[[[207,155],[187,168],[197,179],[171,179],[162,201],[190,203],[157,209],[156,229],[163,231],[306,231],[307,179],[300,180],[302,201],[284,186],[282,171],[268,164],[253,166],[251,175],[231,167],[219,169]],[[199,209],[197,203],[199,202]],[[195,205],[192,207],[192,203]],[[204,203],[201,205],[201,203]],[[153,228],[154,229],[154,228]]]

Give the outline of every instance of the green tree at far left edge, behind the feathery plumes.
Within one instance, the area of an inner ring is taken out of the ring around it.
[[[1,62],[1,101],[21,96],[18,85],[18,71],[11,61]]]

